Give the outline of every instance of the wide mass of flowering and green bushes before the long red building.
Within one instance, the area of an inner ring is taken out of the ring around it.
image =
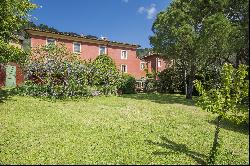
[[[33,49],[26,74],[19,92],[52,98],[116,94],[122,81],[109,56],[86,62],[63,44]]]

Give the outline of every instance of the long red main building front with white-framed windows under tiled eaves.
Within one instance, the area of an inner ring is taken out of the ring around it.
[[[107,54],[114,60],[118,70],[130,74],[136,79],[146,76],[144,69],[140,66],[142,61],[136,56],[139,45],[109,41],[105,38],[71,36],[34,29],[28,29],[26,32],[30,36],[32,48],[49,43],[64,43],[69,51],[77,53],[82,59],[94,60],[101,54]]]

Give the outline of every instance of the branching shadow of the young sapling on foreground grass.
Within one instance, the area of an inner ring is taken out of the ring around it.
[[[171,151],[170,152],[169,151],[167,151],[167,152],[155,151],[155,152],[153,152],[154,155],[167,156],[170,154],[183,153],[183,154],[193,158],[198,164],[201,164],[201,165],[206,164],[206,162],[205,162],[205,159],[207,158],[206,155],[192,151],[187,147],[187,145],[178,144],[176,142],[169,140],[166,137],[161,137],[161,139],[162,139],[163,143],[162,142],[153,142],[151,140],[146,140],[146,142],[148,144],[151,144],[151,145],[156,145],[156,146],[160,146],[162,148],[170,149]]]

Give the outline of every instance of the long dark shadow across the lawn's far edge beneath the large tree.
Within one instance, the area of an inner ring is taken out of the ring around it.
[[[160,104],[183,104],[194,106],[194,100],[188,100],[184,95],[179,94],[161,94],[161,93],[138,93],[138,94],[124,94],[120,97],[131,98],[136,100],[148,100]]]

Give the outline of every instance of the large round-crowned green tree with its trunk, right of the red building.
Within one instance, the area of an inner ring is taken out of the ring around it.
[[[153,24],[150,42],[154,51],[179,60],[187,71],[188,99],[192,98],[197,71],[211,64],[221,66],[225,58],[236,54],[230,50],[236,27],[228,17],[230,5],[227,0],[175,0]]]

